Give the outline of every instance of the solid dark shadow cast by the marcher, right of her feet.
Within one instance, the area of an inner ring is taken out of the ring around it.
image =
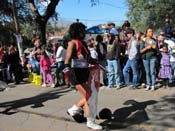
[[[111,119],[105,120],[101,125],[107,127],[109,130],[127,128],[133,124],[140,124],[149,120],[145,108],[148,105],[157,103],[157,101],[149,100],[145,102],[137,102],[135,100],[128,100],[124,105],[129,105],[120,109],[116,109]]]

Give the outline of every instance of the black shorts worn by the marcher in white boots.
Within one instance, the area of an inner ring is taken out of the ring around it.
[[[72,85],[83,84],[88,81],[88,68],[72,68],[70,71],[70,82]]]

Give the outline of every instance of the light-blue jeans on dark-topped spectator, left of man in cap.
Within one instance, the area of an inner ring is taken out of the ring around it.
[[[120,85],[120,60],[107,60],[108,63],[108,86]]]

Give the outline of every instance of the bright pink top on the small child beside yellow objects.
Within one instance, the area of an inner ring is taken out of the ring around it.
[[[51,61],[50,59],[40,59],[40,66],[42,68],[42,71],[48,71],[51,69]]]

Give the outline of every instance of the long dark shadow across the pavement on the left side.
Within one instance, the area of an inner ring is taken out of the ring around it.
[[[44,106],[43,102],[46,102],[52,99],[57,99],[69,91],[71,91],[70,88],[59,88],[59,89],[57,88],[55,90],[52,90],[46,93],[42,93],[42,94],[30,97],[30,98],[24,98],[20,100],[0,103],[0,108],[5,108],[5,110],[0,113],[11,115],[11,114],[17,113],[17,112],[14,112],[14,109],[25,107],[28,105],[31,105],[31,108],[43,107]]]

